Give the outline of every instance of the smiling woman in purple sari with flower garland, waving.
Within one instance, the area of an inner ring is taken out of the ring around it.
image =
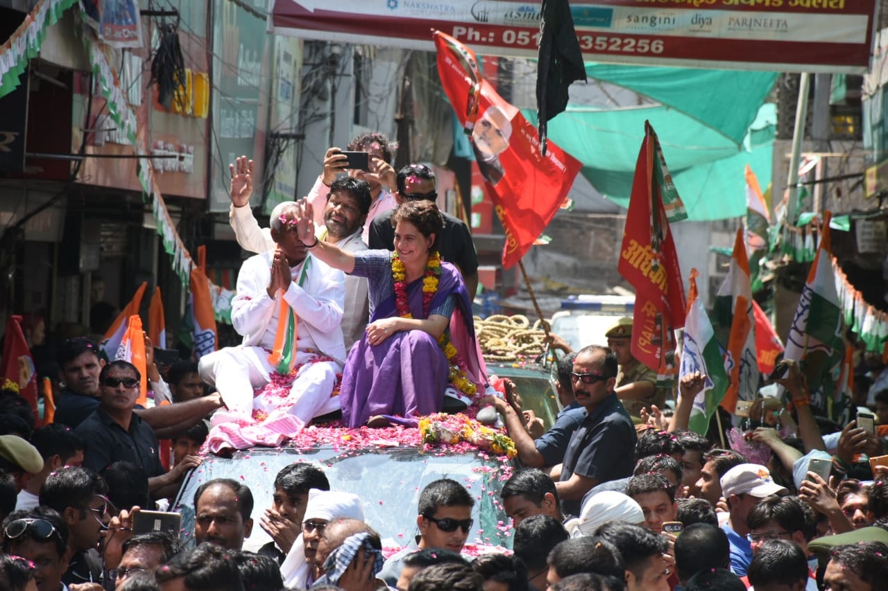
[[[393,252],[350,253],[316,240],[311,205],[299,207],[299,240],[312,256],[369,282],[370,323],[349,353],[339,393],[348,427],[416,426],[417,417],[440,412],[448,383],[468,398],[488,386],[463,277],[438,254],[444,222],[434,203],[395,210]]]

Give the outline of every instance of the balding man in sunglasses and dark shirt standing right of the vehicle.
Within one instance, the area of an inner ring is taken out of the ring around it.
[[[579,515],[593,486],[631,476],[635,467],[635,425],[614,393],[616,374],[616,355],[607,347],[590,345],[574,358],[574,397],[586,418],[551,472],[567,515]]]

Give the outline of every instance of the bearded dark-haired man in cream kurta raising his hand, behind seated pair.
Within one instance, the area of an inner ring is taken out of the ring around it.
[[[274,248],[271,231],[260,228],[249,207],[252,193],[251,169],[246,159],[239,158],[238,168],[232,175],[232,206],[229,221],[237,243],[250,252],[266,252]],[[250,181],[249,192],[245,190]],[[323,204],[315,211],[323,212],[323,225],[319,225],[318,240],[324,240],[348,252],[367,250],[361,240],[361,226],[367,222],[372,196],[369,184],[351,177],[333,181],[324,187]],[[246,194],[245,194],[246,193]],[[242,205],[238,205],[242,203]],[[361,340],[369,320],[367,279],[345,275],[345,307],[343,308],[342,333],[345,350]]]

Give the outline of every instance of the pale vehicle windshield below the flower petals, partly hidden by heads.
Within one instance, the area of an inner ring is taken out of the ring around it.
[[[348,437],[344,435],[344,437]],[[234,478],[250,486],[253,493],[253,531],[244,548],[257,550],[270,538],[259,527],[265,509],[271,507],[274,477],[296,461],[318,462],[334,490],[355,493],[363,500],[364,518],[379,532],[386,548],[406,546],[416,527],[416,505],[425,485],[439,478],[452,478],[475,497],[469,544],[511,548],[511,528],[503,512],[499,493],[511,476],[511,464],[481,452],[424,452],[416,447],[380,446],[341,451],[330,446],[313,450],[260,448],[234,454],[233,458],[209,456],[186,479],[171,510],[182,514],[186,540],[194,532],[194,492],[213,478]]]

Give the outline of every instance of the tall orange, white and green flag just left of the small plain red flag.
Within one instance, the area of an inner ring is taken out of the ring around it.
[[[731,383],[721,405],[733,414],[737,400],[756,398],[759,377],[749,261],[740,228],[734,237],[731,266],[718,288],[713,313],[721,327],[731,327],[725,356],[725,371],[730,375]]]

